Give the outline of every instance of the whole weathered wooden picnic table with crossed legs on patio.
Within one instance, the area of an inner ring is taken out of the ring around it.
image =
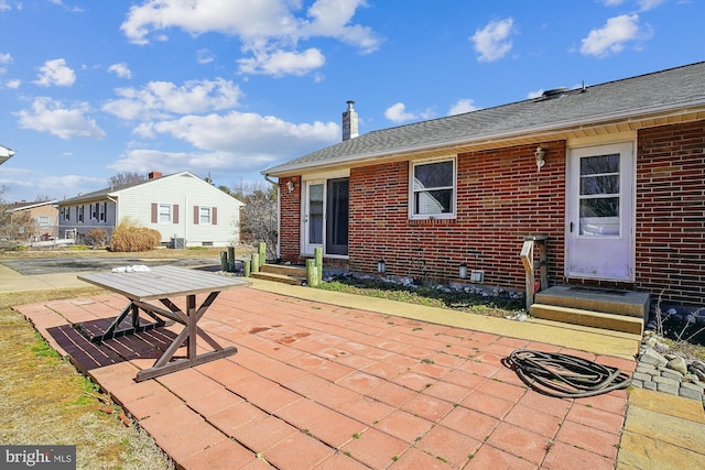
[[[225,358],[237,352],[237,348],[232,346],[223,348],[218,345],[216,340],[198,327],[198,320],[203,318],[221,291],[250,285],[248,281],[176,266],[154,266],[150,267],[149,271],[90,273],[79,275],[78,278],[122,294],[130,300],[108,329],[101,335],[90,338],[93,342],[99,343],[108,339],[164,327],[166,325],[164,318],[184,326],[184,329],[154,362],[154,365],[138,372],[135,378],[138,382]],[[198,307],[196,306],[197,294],[206,294],[206,298]],[[186,311],[172,302],[173,298],[183,296],[186,297]],[[149,300],[159,300],[166,308],[150,304]],[[143,319],[140,319],[140,310],[153,318],[154,321],[144,324]],[[129,314],[132,314],[131,326],[119,329],[120,324]],[[214,350],[197,354],[197,337],[204,339]],[[186,342],[186,357],[172,360],[184,342]]]

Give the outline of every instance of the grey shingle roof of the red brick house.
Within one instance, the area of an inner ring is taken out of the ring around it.
[[[705,62],[641,75],[557,98],[540,97],[495,108],[369,132],[262,171],[276,175],[392,153],[509,138],[644,112],[705,105]]]

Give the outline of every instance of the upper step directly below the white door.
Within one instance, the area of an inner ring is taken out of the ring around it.
[[[649,317],[651,296],[643,292],[555,285],[538,292],[535,302],[646,320]]]

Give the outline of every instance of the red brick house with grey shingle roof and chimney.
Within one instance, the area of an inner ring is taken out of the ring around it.
[[[343,133],[262,172],[283,261],[321,247],[356,272],[448,282],[465,264],[522,289],[524,237],[542,234],[550,284],[705,304],[705,63]]]

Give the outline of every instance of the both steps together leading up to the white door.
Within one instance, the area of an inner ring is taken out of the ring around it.
[[[650,303],[650,295],[640,292],[556,285],[536,293],[530,313],[546,320],[641,335]]]

